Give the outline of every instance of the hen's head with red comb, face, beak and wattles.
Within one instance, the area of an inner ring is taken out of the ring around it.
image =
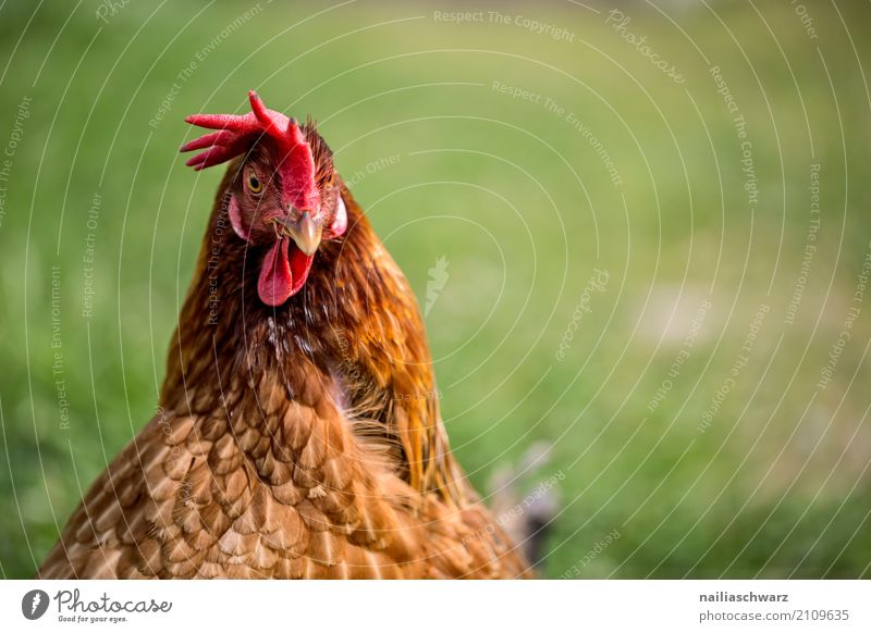
[[[188,123],[217,129],[184,145],[203,149],[187,161],[196,170],[242,156],[225,191],[235,234],[266,249],[257,294],[267,306],[281,306],[305,285],[321,241],[347,228],[347,211],[332,157],[310,127],[269,110],[248,92],[252,112],[194,114]],[[312,142],[318,151],[312,151]]]

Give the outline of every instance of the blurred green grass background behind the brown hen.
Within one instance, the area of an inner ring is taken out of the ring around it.
[[[182,119],[256,88],[321,122],[421,303],[436,288],[473,482],[552,445],[517,486],[560,480],[544,575],[871,575],[870,17],[0,4],[0,574],[34,573],[154,414],[221,177],[183,166]]]

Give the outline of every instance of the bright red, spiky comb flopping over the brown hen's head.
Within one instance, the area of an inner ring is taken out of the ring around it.
[[[186,164],[197,171],[220,164],[245,153],[254,141],[268,135],[283,154],[279,171],[284,191],[293,198],[291,202],[298,209],[312,208],[317,202],[315,159],[296,120],[268,109],[254,90],[248,92],[248,99],[252,112],[247,114],[192,114],[185,119],[193,125],[218,131],[182,146],[181,151],[206,150]]]

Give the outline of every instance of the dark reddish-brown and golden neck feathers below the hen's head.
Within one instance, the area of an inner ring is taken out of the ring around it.
[[[244,410],[237,400],[278,382],[284,407],[329,402],[380,422],[384,439],[402,446],[397,470],[413,487],[463,502],[417,302],[351,194],[343,189],[345,235],[322,244],[305,286],[271,308],[257,295],[265,249],[233,233],[228,185],[229,176],[170,345],[162,407],[232,417]]]

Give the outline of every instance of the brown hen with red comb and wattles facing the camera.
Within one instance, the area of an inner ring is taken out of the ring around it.
[[[157,415],[37,575],[528,578],[451,454],[417,302],[309,121],[194,115],[230,161]]]

